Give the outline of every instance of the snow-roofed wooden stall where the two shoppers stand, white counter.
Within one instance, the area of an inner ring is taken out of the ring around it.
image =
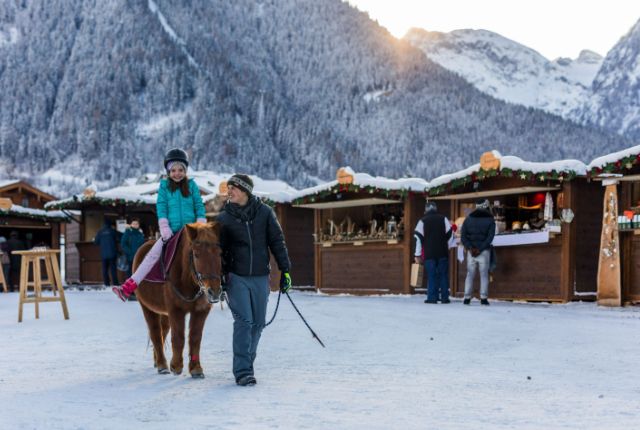
[[[595,299],[602,188],[588,180],[583,163],[529,163],[492,151],[479,164],[431,181],[429,198],[450,202],[450,218],[459,225],[477,199],[490,201],[497,229],[490,298]],[[450,259],[457,297],[464,295],[464,254],[459,245],[458,258]],[[474,284],[477,295],[478,277]]]

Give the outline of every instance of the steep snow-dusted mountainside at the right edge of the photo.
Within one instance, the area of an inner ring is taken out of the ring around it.
[[[576,116],[585,123],[640,138],[640,21],[609,51],[589,99]]]

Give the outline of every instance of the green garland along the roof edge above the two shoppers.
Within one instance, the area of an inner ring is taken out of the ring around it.
[[[464,176],[462,178],[456,178],[447,184],[430,188],[428,190],[428,194],[431,197],[438,196],[446,192],[452,192],[458,188],[462,188],[465,185],[473,182],[483,181],[488,178],[496,178],[496,177],[518,178],[520,180],[530,181],[530,182],[545,182],[549,180],[571,181],[575,179],[576,176],[578,176],[578,174],[574,171],[558,172],[557,170],[551,170],[549,172],[534,173],[529,170],[513,170],[509,168],[479,170],[477,172],[473,172],[470,175]]]

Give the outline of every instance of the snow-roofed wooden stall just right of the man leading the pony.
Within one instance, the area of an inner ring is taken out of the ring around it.
[[[292,208],[313,213],[315,287],[325,293],[411,293],[413,228],[427,182],[338,170],[335,181],[300,192]]]

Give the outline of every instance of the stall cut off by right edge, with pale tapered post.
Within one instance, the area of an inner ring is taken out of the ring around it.
[[[640,303],[640,145],[596,158],[588,169],[603,185],[600,206],[613,215],[601,224],[598,302]]]

